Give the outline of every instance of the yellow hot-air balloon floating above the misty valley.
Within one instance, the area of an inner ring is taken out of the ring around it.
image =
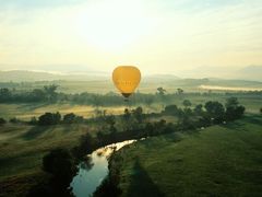
[[[124,97],[129,97],[141,80],[140,70],[133,66],[120,66],[112,72],[112,81]]]

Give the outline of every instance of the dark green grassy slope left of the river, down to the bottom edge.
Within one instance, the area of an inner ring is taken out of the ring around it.
[[[27,189],[45,178],[41,158],[57,147],[71,148],[88,129],[86,125],[26,126],[0,128],[0,185],[3,196],[24,196]],[[0,196],[1,196],[0,195]]]

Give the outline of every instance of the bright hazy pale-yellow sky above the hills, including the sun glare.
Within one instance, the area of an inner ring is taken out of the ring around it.
[[[261,0],[0,0],[0,70],[262,65]]]

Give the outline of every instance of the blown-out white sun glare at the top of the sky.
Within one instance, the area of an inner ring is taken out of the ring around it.
[[[81,9],[75,14],[74,25],[86,45],[114,50],[146,36],[151,22],[135,1],[99,1]]]

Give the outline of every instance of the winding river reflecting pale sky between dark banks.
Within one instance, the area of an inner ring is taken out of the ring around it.
[[[133,143],[136,140],[126,140],[99,148],[87,155],[85,162],[78,165],[79,172],[73,177],[70,187],[76,197],[92,196],[108,174],[108,157],[114,150]]]

